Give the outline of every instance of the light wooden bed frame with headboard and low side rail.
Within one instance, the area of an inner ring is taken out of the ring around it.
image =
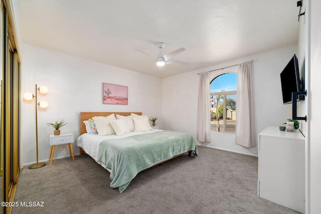
[[[106,116],[111,115],[111,114],[115,114],[115,116],[116,116],[116,114],[122,115],[122,116],[129,116],[129,115],[131,115],[131,113],[134,113],[134,114],[137,114],[137,115],[142,115],[141,112],[80,112],[80,135],[82,135],[83,133],[87,133],[86,126],[83,123],[83,121],[91,119],[94,116],[104,116],[104,117],[106,117]],[[79,147],[79,148],[80,148],[80,155],[82,155],[85,151],[81,147]],[[191,156],[192,151],[188,151],[188,152],[189,152],[189,156]],[[171,158],[169,158],[167,160],[164,160],[162,162],[156,163],[156,164],[154,164],[152,166],[155,166],[155,165],[158,165],[158,164],[163,163],[165,161],[168,161],[170,159],[173,159],[173,158],[175,158],[177,156],[180,156],[180,155],[182,155],[184,153],[185,152],[183,152],[181,154],[177,154],[177,155],[175,155],[175,156],[173,156],[173,157],[171,157]]]

